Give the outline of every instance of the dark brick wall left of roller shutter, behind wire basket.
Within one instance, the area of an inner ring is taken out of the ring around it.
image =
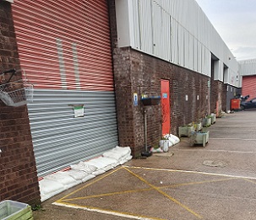
[[[3,1],[0,29],[0,72],[19,69],[11,4]],[[20,77],[20,73],[15,76]],[[0,119],[0,201],[36,204],[41,199],[26,105],[8,107],[0,101]]]

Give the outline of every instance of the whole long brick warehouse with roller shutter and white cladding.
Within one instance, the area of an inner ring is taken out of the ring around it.
[[[0,103],[0,200],[36,202],[38,178],[117,145],[137,157],[178,126],[230,110],[241,91],[238,62],[194,0],[0,7],[1,72],[22,69],[15,78],[34,85],[32,103]]]

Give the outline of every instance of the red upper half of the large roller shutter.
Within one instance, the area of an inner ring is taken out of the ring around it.
[[[106,1],[13,4],[21,66],[35,89],[113,90]]]

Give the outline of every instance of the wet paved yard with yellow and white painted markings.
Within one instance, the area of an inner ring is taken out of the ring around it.
[[[34,219],[256,219],[256,110],[216,119],[205,148],[188,137],[52,197]]]

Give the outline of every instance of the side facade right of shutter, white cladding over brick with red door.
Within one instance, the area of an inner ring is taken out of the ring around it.
[[[164,106],[133,105],[133,94],[170,100],[172,134],[178,126],[230,108],[230,91],[241,87],[238,63],[195,1],[110,2],[121,145],[132,146],[137,155],[145,142],[155,146],[166,132]],[[162,81],[168,83],[167,95]]]

